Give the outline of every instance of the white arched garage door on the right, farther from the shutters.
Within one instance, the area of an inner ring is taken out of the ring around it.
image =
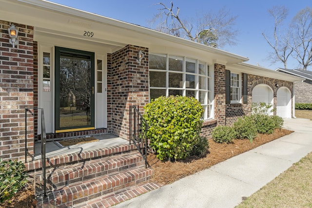
[[[291,93],[287,88],[279,88],[276,94],[276,115],[282,118],[292,117]]]

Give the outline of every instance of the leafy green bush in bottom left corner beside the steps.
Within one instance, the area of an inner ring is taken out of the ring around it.
[[[10,199],[27,182],[22,162],[2,161],[0,158],[0,203]]]

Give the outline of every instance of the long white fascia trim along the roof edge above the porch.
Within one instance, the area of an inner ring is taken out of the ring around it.
[[[12,1],[12,0],[11,0]],[[86,12],[83,10],[79,10],[79,9],[75,9],[69,6],[64,6],[58,3],[54,3],[54,2],[50,2],[47,0],[16,0],[18,2],[23,2],[23,3],[27,3],[27,4],[32,4],[36,7],[41,7],[41,8],[45,8],[45,9],[49,9],[49,10],[53,10],[55,12],[60,12],[60,13],[65,13],[65,14],[69,14],[69,15],[73,15],[79,18],[83,18],[83,19],[88,19],[91,21],[98,21],[102,24],[108,24],[108,25],[114,25],[115,27],[119,27],[119,28],[124,28],[124,29],[128,29],[128,30],[132,30],[138,33],[142,33],[148,36],[153,36],[155,38],[160,38],[160,39],[166,39],[172,42],[176,42],[179,44],[184,44],[186,46],[189,47],[193,47],[193,48],[197,48],[203,51],[207,51],[207,52],[212,52],[215,54],[219,54],[225,57],[231,57],[234,59],[237,59],[237,62],[243,62],[243,61],[248,61],[249,58],[248,57],[243,57],[243,56],[239,56],[227,51],[223,51],[221,49],[217,49],[217,48],[213,48],[210,46],[206,46],[191,40],[187,40],[184,38],[178,38],[172,35],[168,35],[165,33],[161,33],[159,31],[156,30],[152,30],[149,28],[145,28],[139,25],[135,25],[135,24],[131,24],[131,23],[127,23],[124,21],[120,21],[117,19],[111,19],[111,18],[107,18],[101,15],[97,15],[94,13],[90,13],[90,12]]]

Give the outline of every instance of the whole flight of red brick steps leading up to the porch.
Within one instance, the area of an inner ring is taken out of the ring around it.
[[[82,151],[47,159],[47,197],[43,197],[40,161],[28,162],[36,184],[37,207],[104,207],[125,201],[160,185],[148,182],[152,169],[134,145]]]

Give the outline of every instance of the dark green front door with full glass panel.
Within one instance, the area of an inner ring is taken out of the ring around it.
[[[55,129],[94,129],[94,53],[55,47]]]

